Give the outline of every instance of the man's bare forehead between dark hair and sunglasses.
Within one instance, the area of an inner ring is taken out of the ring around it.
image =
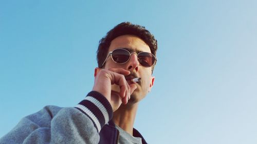
[[[126,48],[133,52],[150,52],[150,47],[135,35],[121,35],[112,40],[109,51],[117,48]]]

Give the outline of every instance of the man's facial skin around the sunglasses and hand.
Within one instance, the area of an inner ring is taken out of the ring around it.
[[[130,53],[151,53],[150,47],[145,44],[142,39],[134,35],[122,35],[116,37],[112,40],[108,52],[119,48],[127,49],[130,51]],[[108,70],[111,68],[123,68],[131,72],[131,77],[141,77],[141,82],[136,84],[137,89],[132,93],[131,99],[128,102],[138,102],[144,98],[148,92],[150,92],[154,83],[154,77],[152,77],[152,67],[141,66],[136,54],[132,54],[130,59],[125,64],[115,63],[111,57],[108,57],[104,69]],[[131,84],[130,80],[127,81],[128,84]],[[112,85],[112,90],[119,91],[119,86]]]

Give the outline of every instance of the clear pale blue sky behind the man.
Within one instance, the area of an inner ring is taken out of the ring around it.
[[[99,39],[115,25],[158,40],[135,128],[150,143],[257,142],[257,1],[0,0],[0,137],[46,105],[92,89]]]

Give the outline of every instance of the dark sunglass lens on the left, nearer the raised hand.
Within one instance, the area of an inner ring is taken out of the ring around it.
[[[130,58],[130,53],[126,50],[116,49],[113,51],[112,57],[116,63],[125,63]]]

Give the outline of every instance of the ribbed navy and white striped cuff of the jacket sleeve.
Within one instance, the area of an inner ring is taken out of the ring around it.
[[[91,91],[75,108],[87,115],[98,132],[113,117],[113,108],[109,101],[99,92]]]

